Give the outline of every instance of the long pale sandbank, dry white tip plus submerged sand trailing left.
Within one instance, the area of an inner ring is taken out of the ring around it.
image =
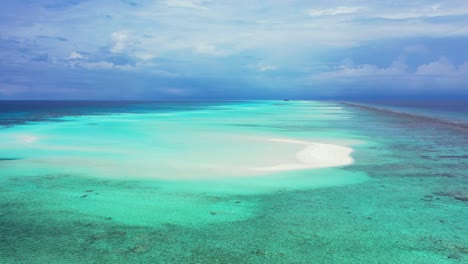
[[[38,135],[14,135],[25,148],[44,155],[22,163],[110,178],[214,179],[269,175],[276,172],[346,166],[350,147],[293,138],[211,134],[180,137],[182,148],[148,142],[146,149],[56,144]],[[33,139],[33,140],[32,140]],[[15,144],[18,144],[16,142]],[[122,142],[121,144],[128,144]],[[66,152],[56,155],[57,151]]]

